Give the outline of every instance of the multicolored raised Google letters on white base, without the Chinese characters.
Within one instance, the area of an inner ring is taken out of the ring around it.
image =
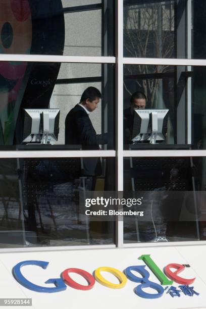
[[[157,266],[157,264],[150,258],[150,254],[141,255],[138,259],[142,260],[145,263],[145,265],[129,266],[124,270],[124,272],[121,272],[120,270],[112,268],[112,267],[99,267],[95,270],[94,277],[83,269],[68,268],[63,271],[62,276],[60,278],[48,279],[45,282],[45,283],[53,283],[55,285],[54,287],[44,287],[44,286],[36,285],[30,282],[29,280],[27,280],[21,273],[21,268],[26,265],[35,265],[43,269],[46,269],[48,266],[48,262],[45,262],[45,261],[20,262],[13,268],[13,275],[15,279],[24,287],[32,291],[44,292],[44,293],[56,293],[56,292],[64,291],[66,290],[67,285],[72,288],[78,289],[78,290],[90,290],[93,288],[95,284],[95,279],[97,282],[99,282],[100,284],[108,288],[121,289],[126,285],[127,280],[129,279],[133,282],[139,283],[135,287],[134,291],[138,296],[143,297],[143,298],[161,297],[164,293],[164,288],[162,285],[172,285],[173,281],[179,284],[189,285],[189,284],[192,284],[195,280],[195,278],[185,279],[185,278],[178,276],[178,274],[185,269],[185,266],[181,264],[175,264],[175,263],[168,264],[164,268],[164,272],[165,272],[164,273]],[[161,285],[149,280],[150,274],[145,269],[146,265],[153,272],[153,274],[155,274],[155,276],[159,279],[159,281],[161,282]],[[108,281],[106,278],[104,278],[104,276],[102,276],[101,272],[109,272],[113,274],[115,277],[118,278],[119,284]],[[81,285],[75,282],[70,277],[69,275],[70,273],[76,273],[76,274],[81,275],[83,278],[87,280],[88,285]],[[139,275],[141,275],[141,277],[136,276],[134,273],[138,273]],[[155,290],[156,293],[152,293],[152,294],[148,293],[146,292],[146,288],[151,288]]]

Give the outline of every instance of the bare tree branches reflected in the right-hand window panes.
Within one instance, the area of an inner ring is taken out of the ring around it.
[[[171,2],[172,3],[172,2]],[[124,11],[124,48],[127,57],[171,58],[174,55],[174,6],[172,4],[129,6]],[[146,74],[136,80],[138,89],[146,94],[151,107],[155,107],[160,79],[149,74],[166,73],[168,65],[127,65],[125,74]],[[130,93],[126,84],[125,89]]]

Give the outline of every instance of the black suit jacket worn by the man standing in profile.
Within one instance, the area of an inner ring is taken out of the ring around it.
[[[83,150],[97,150],[99,145],[107,144],[107,133],[96,134],[89,115],[76,105],[65,120],[65,144],[82,145]],[[98,158],[84,158],[84,175],[101,175],[101,162]]]

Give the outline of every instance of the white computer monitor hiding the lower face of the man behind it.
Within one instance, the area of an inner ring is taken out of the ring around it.
[[[134,110],[133,143],[164,142],[167,133],[169,110]]]

